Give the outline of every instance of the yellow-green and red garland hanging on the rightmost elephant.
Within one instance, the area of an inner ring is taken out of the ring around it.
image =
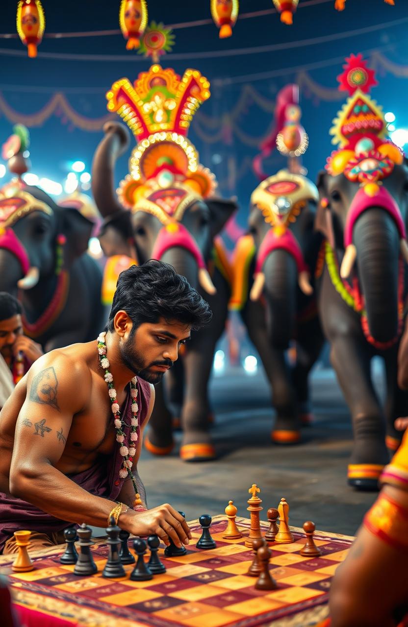
[[[380,350],[389,349],[394,346],[394,344],[398,341],[400,334],[402,332],[402,324],[404,322],[404,265],[400,260],[399,264],[399,277],[398,277],[398,329],[395,337],[389,342],[378,342],[378,340],[374,339],[370,334],[370,329],[368,329],[368,320],[367,320],[367,312],[363,306],[363,297],[360,293],[360,289],[358,286],[358,280],[355,279],[353,288],[348,285],[345,281],[343,281],[340,277],[340,273],[338,271],[338,261],[335,256],[335,251],[331,248],[328,241],[325,242],[325,261],[328,269],[328,273],[330,276],[331,283],[333,283],[333,287],[336,292],[338,292],[347,303],[349,307],[352,307],[357,314],[361,316],[361,324],[363,334],[365,335],[365,339],[367,339],[370,344],[372,344],[375,348]]]

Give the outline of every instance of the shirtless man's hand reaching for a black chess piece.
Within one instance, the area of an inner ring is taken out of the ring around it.
[[[168,503],[139,514],[129,509],[121,514],[120,525],[134,535],[158,535],[166,545],[170,544],[169,538],[177,547],[189,544],[191,540],[190,528],[185,519]]]

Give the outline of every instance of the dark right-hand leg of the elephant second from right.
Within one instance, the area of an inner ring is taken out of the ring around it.
[[[323,334],[317,318],[298,326],[296,364],[293,368],[292,379],[296,389],[301,424],[313,422],[313,412],[309,401],[309,373],[319,357],[323,344]]]

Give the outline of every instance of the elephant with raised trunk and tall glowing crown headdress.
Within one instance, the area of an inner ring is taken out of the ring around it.
[[[211,324],[194,334],[186,347],[182,367],[165,378],[175,417],[181,418],[180,456],[186,461],[215,456],[208,431],[207,382],[215,344],[225,327],[231,275],[216,236],[237,208],[234,201],[215,198],[215,177],[201,166],[187,137],[194,113],[210,97],[209,87],[197,70],[186,70],[180,77],[160,65],[139,74],[134,83],[117,80],[107,93],[107,108],[122,117],[136,139],[130,173],[116,194],[114,164],[127,148],[128,132],[115,122],[105,125],[92,168],[92,191],[104,216],[100,243],[111,256],[107,281],[115,284],[114,266],[123,255],[128,265],[151,258],[165,261],[213,311]],[[172,417],[163,393],[157,391],[145,444],[151,453],[166,455],[173,448]]]

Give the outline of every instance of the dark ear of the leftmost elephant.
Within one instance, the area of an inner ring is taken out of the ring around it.
[[[88,250],[94,223],[73,207],[58,208],[58,214],[57,235],[63,234],[67,238],[64,246],[64,265],[70,266]]]

